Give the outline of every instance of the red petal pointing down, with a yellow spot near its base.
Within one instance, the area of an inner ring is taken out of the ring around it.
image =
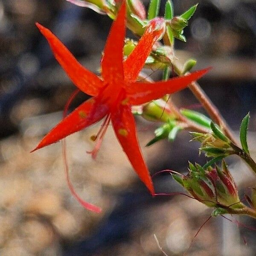
[[[153,195],[154,187],[138,145],[131,107],[128,105],[120,105],[118,111],[111,114],[111,121],[116,137],[134,167],[135,172],[137,172],[140,179]]]

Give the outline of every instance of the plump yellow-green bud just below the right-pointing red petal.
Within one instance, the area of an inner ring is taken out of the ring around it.
[[[153,122],[168,122],[168,120],[177,118],[163,99],[157,99],[144,105],[141,116]]]

